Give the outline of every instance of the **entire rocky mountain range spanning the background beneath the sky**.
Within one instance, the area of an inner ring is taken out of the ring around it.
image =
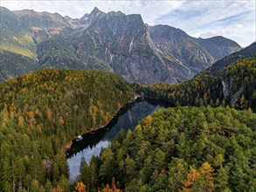
[[[78,19],[34,10],[1,8],[1,13],[1,26],[8,30],[1,31],[0,80],[57,67],[115,72],[143,84],[177,83],[241,48],[226,38],[203,40],[168,25],[149,26],[141,15],[121,11],[94,8]]]

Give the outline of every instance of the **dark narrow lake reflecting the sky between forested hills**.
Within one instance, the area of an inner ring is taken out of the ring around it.
[[[70,182],[76,181],[80,174],[80,161],[82,157],[87,162],[91,161],[93,155],[99,155],[102,147],[107,147],[108,142],[114,139],[121,129],[127,133],[128,129],[135,129],[139,120],[154,113],[159,108],[167,108],[170,104],[156,99],[136,99],[135,103],[121,108],[116,118],[107,127],[93,134],[84,134],[83,141],[73,141],[68,151],[67,163],[69,166]]]

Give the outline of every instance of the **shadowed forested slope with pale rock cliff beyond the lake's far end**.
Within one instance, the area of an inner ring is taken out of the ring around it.
[[[166,83],[142,86],[135,84],[142,95],[163,99],[183,106],[230,105],[256,111],[256,58],[246,58],[228,65],[218,78],[200,75],[180,84]]]

